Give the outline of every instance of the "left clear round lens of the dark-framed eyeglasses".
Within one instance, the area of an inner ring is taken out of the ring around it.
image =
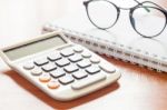
[[[111,27],[117,19],[117,9],[107,1],[92,1],[88,6],[89,18],[99,28]]]

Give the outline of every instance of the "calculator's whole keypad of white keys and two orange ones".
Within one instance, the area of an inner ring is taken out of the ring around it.
[[[99,57],[78,46],[35,59],[32,63],[24,63],[23,69],[40,82],[47,83],[49,89],[69,84],[71,89],[81,89],[105,80],[104,72],[116,71],[114,67],[108,68],[108,64],[100,61]]]

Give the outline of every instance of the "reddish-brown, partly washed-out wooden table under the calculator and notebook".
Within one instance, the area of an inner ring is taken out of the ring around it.
[[[65,0],[16,1],[0,1],[1,47],[39,34],[43,23],[62,17],[62,13],[52,14],[51,12],[59,12],[58,9],[61,9],[66,13],[68,10],[63,8],[73,2],[72,0],[68,3]],[[80,1],[76,0],[76,2]],[[165,0],[158,0],[158,2],[164,7],[167,6]],[[51,7],[46,7],[46,3]],[[167,110],[166,73],[102,57],[120,68],[121,78],[105,89],[69,102],[51,99],[0,60],[0,110]]]

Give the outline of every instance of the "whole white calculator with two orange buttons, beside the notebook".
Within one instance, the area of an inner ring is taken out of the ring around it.
[[[69,101],[97,91],[120,78],[119,70],[61,31],[1,49],[4,62],[56,100]]]

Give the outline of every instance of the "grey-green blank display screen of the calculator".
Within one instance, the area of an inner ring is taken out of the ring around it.
[[[61,37],[55,36],[4,50],[4,53],[10,60],[16,60],[65,43]]]

